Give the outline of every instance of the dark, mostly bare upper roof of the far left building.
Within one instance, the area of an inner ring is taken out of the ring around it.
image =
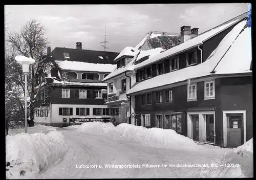
[[[119,53],[107,51],[79,50],[70,48],[54,48],[51,52],[54,60],[65,60],[63,53],[68,53],[70,60],[78,62],[115,64],[114,59]]]

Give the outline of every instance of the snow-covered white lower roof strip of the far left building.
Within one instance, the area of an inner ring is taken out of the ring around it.
[[[108,72],[111,73],[116,69],[115,64],[99,64],[76,61],[55,61],[60,69],[72,71],[92,71],[92,72]]]

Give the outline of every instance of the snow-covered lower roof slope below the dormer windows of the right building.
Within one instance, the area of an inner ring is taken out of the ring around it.
[[[251,73],[251,28],[239,22],[219,43],[207,60],[195,66],[166,73],[135,84],[126,94],[214,74]],[[195,38],[196,39],[196,38]],[[173,48],[174,49],[174,48]],[[170,50],[172,51],[172,49]]]

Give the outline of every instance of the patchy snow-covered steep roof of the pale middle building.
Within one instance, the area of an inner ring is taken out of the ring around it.
[[[165,51],[167,49],[173,48],[180,43],[180,36],[174,33],[166,33],[159,31],[150,31],[148,32],[143,39],[137,44],[133,50],[135,51],[134,58],[123,68],[118,68],[110,75],[106,76],[103,81],[111,79],[119,74],[124,73],[125,71],[130,71],[131,66],[136,63],[140,63],[148,59],[149,57],[155,56],[156,54]],[[127,47],[127,50],[131,47]],[[121,53],[126,52],[124,49]],[[120,53],[120,54],[121,54]],[[121,57],[123,55],[120,55]],[[118,59],[118,58],[116,58]]]

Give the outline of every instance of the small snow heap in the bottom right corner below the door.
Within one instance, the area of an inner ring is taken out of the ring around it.
[[[216,159],[209,163],[209,165],[219,164],[219,167],[200,168],[194,175],[206,178],[253,177],[252,141],[253,140],[250,139],[242,146],[225,153],[220,159]]]

